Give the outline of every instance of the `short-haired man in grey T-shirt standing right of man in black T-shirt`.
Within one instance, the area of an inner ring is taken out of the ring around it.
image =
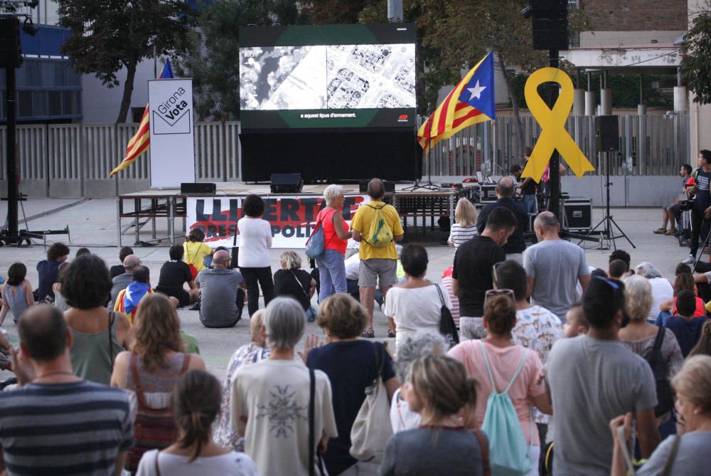
[[[585,251],[560,239],[560,223],[550,211],[540,213],[533,221],[533,228],[539,242],[523,256],[528,295],[533,304],[545,307],[563,321],[578,299],[577,283],[584,292],[590,282]]]

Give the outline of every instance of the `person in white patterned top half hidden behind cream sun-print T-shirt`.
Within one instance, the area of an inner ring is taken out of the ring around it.
[[[223,385],[223,399],[220,405],[220,420],[215,425],[215,442],[235,451],[245,450],[245,438],[232,431],[230,427],[230,408],[232,406],[232,386],[235,372],[243,365],[257,364],[269,358],[267,338],[264,336],[264,310],[258,310],[250,317],[252,342],[245,344],[232,354],[227,364],[227,376]]]

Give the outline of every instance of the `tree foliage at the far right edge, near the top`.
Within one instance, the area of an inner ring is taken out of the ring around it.
[[[711,11],[700,12],[684,37],[681,74],[694,102],[711,103]]]

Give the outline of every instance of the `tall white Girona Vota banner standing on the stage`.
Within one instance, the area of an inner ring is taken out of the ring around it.
[[[195,181],[193,80],[149,80],[151,188]]]

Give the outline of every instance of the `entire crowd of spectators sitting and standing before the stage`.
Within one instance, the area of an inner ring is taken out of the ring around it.
[[[256,196],[238,222],[249,236],[239,257],[193,233],[169,250],[155,288],[129,248],[109,270],[53,245],[36,296],[26,266],[12,265],[0,311],[19,334],[18,349],[0,334],[0,367],[17,379],[0,391],[7,474],[707,473],[711,276],[683,265],[672,285],[622,250],[591,270],[547,212],[519,257],[505,248],[515,211],[491,207],[463,240],[476,219],[463,206],[452,269],[434,282],[424,247],[398,256],[400,218],[380,201],[382,182],[350,228],[342,190],[326,191],[326,241],[360,241],[360,301],[347,292],[342,243],[316,276],[294,251],[272,274]],[[383,246],[376,218],[389,228]],[[312,307],[315,277],[328,285]],[[388,342],[373,339],[378,285]],[[206,327],[230,327],[245,301],[250,342],[220,384],[176,307],[198,302]],[[309,316],[319,335],[305,335]]]

